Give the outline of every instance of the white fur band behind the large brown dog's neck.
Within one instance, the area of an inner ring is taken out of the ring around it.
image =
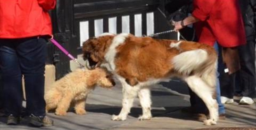
[[[108,49],[108,52],[105,54],[105,60],[110,64],[110,69],[112,71],[115,70],[115,55],[117,53],[116,51],[116,47],[118,47],[119,45],[122,45],[125,41],[125,39],[129,36],[128,33],[121,33],[119,35],[116,35],[113,40],[112,43]]]

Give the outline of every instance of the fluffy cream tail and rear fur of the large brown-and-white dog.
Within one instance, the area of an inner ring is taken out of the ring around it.
[[[208,50],[196,49],[182,52],[172,59],[174,69],[179,73],[200,76],[208,85],[216,85],[217,55]]]

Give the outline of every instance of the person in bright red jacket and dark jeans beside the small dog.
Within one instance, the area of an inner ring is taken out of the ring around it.
[[[48,11],[55,5],[56,0],[0,0],[0,71],[7,125],[19,123],[22,76],[29,123],[53,125],[45,116],[44,71],[47,38],[52,35]]]

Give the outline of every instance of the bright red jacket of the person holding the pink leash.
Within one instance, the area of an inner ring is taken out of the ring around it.
[[[52,35],[48,11],[56,0],[0,0],[0,38]]]

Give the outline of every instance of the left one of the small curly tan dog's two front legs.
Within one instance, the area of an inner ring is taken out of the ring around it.
[[[59,104],[57,105],[57,109],[55,110],[55,114],[59,116],[67,115],[67,110],[69,109],[70,103],[73,99],[73,95],[71,92],[65,92]]]

